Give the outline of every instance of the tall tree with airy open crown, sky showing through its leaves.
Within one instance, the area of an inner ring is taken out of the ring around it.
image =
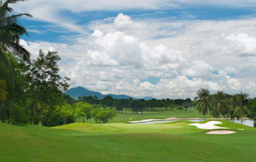
[[[46,126],[50,125],[48,122],[52,119],[51,115],[55,112],[55,107],[63,104],[63,93],[69,86],[67,83],[69,78],[61,78],[59,74],[60,68],[57,62],[60,60],[57,52],[45,54],[40,50],[37,60],[32,61],[27,72],[30,82],[28,93],[32,100],[37,99],[44,104],[42,123]],[[51,122],[51,124],[54,123]]]

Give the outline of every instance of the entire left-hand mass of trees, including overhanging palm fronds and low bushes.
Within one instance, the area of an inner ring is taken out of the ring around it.
[[[77,118],[108,122],[114,111],[108,107],[92,107],[85,103],[71,105],[64,93],[69,78],[61,78],[57,52],[39,51],[31,60],[30,53],[20,45],[20,36],[28,35],[20,16],[9,7],[23,0],[0,1],[0,119],[10,124],[43,124],[54,126],[73,123]],[[90,110],[90,111],[89,111]]]

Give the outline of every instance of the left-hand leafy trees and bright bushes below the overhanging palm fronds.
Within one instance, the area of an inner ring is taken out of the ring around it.
[[[75,119],[94,118],[96,123],[106,123],[115,111],[109,107],[74,103],[67,91],[69,80],[61,78],[56,52],[39,51],[38,58],[27,64],[10,53],[3,53],[14,77],[9,79],[9,68],[0,62],[0,119],[10,124],[43,124],[55,126],[75,122]],[[3,81],[7,80],[7,82]]]

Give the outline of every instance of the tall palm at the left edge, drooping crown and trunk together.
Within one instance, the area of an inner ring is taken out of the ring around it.
[[[13,9],[9,4],[17,3],[24,0],[6,0],[4,3],[0,0],[0,63],[3,69],[0,69],[0,79],[4,79],[10,90],[14,88],[15,77],[14,69],[9,63],[6,54],[19,56],[23,61],[30,63],[30,53],[20,45],[20,36],[28,35],[26,28],[20,25],[18,18],[20,16],[32,17],[30,14],[12,14]],[[8,75],[3,75],[3,71],[8,71]],[[3,82],[3,81],[2,81]],[[5,82],[4,82],[5,84]],[[4,86],[4,85],[2,85]],[[4,88],[4,87],[3,87]],[[6,99],[6,89],[2,89],[1,98]],[[3,93],[4,92],[4,93]],[[3,97],[4,96],[4,97]],[[2,99],[1,99],[2,100]],[[0,111],[2,122],[5,122],[4,103],[1,101]]]

